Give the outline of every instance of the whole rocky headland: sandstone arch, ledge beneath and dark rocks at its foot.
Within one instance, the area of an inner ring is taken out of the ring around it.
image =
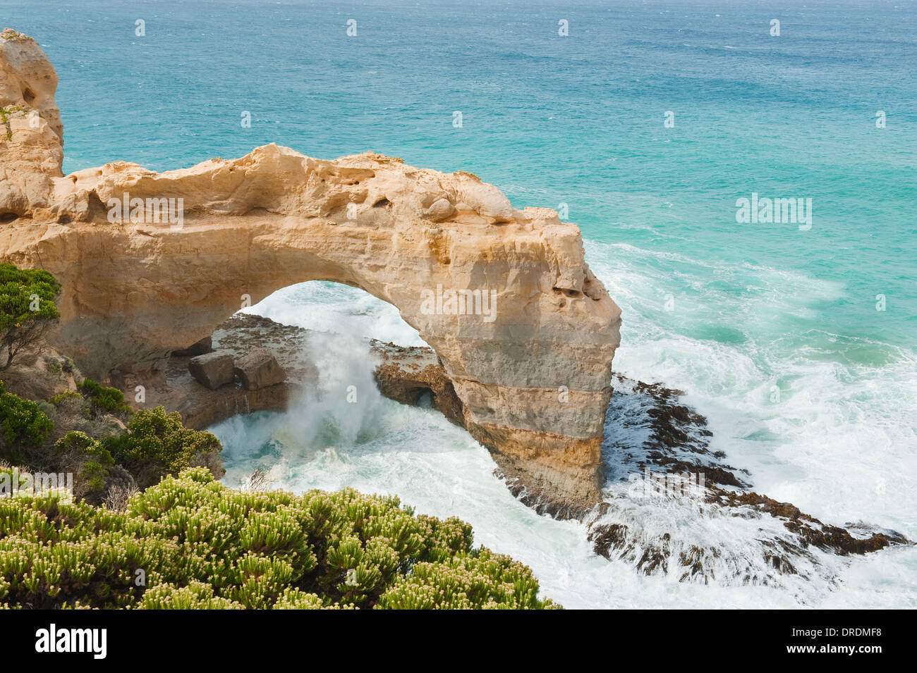
[[[491,450],[519,499],[583,520],[608,559],[680,581],[768,583],[821,572],[819,554],[907,543],[755,493],[678,391],[614,374],[621,311],[557,212],[514,209],[470,173],[275,145],[163,173],[115,161],[64,176],[56,85],[35,41],[4,31],[0,259],[63,288],[52,354],[6,374],[20,394],[72,390],[82,372],[193,429],[282,411],[315,385],[313,333],[237,311],[331,280],[391,303],[429,344],[367,344],[381,393],[429,398]],[[649,472],[703,475],[688,497],[668,493],[673,481],[655,494],[689,525],[647,514],[633,475]],[[723,544],[693,541],[697,526],[722,528]],[[740,528],[760,542],[750,556],[730,546]]]

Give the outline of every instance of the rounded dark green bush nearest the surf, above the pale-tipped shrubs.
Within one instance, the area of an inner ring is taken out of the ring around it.
[[[127,423],[126,433],[106,438],[104,444],[115,461],[134,474],[140,488],[186,467],[209,467],[216,476],[223,475],[220,441],[209,432],[185,428],[182,415],[167,414],[164,407],[139,410]]]

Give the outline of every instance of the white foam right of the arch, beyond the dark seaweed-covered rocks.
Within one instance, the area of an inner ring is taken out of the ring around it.
[[[836,284],[746,266],[757,291],[735,297],[708,290],[691,301],[713,306],[692,315],[690,302],[669,319],[683,325],[710,312],[735,316],[746,341],[696,339],[660,324],[663,312],[646,310],[661,306],[656,278],[603,244],[590,247],[598,260],[593,271],[613,278],[609,290],[624,312],[615,370],[686,391],[686,402],[711,421],[713,450],[752,472],[758,490],[833,523],[865,519],[917,537],[913,356],[862,339],[835,348],[844,338],[826,332],[772,336],[781,317],[805,302],[836,298]],[[857,349],[877,345],[888,362],[856,361]]]

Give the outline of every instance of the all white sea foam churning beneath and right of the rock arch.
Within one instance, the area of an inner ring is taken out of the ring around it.
[[[757,492],[828,523],[863,520],[917,537],[917,377],[909,354],[886,349],[889,361],[878,366],[856,357],[845,362],[824,356],[825,344],[837,337],[812,333],[785,342],[793,335],[779,336],[774,325],[784,313],[805,311],[808,302],[836,298],[836,284],[743,267],[748,291],[729,294],[703,287],[699,277],[734,270],[679,255],[668,259],[686,267],[678,287],[697,294],[667,321],[656,255],[595,243],[587,250],[593,271],[624,309],[617,371],[686,391],[685,402],[710,420],[711,450],[723,450],[726,462],[747,469]],[[695,264],[704,271],[691,273]],[[735,277],[730,281],[735,286]],[[793,292],[800,284],[804,297]],[[344,286],[293,286],[250,310],[311,329],[422,343],[397,310]],[[735,338],[691,334],[717,316]],[[840,350],[858,345],[843,343]],[[800,575],[768,586],[743,584],[726,567],[717,570],[722,581],[702,585],[679,582],[676,572],[644,576],[628,559],[602,559],[583,524],[537,516],[514,500],[492,475],[487,450],[463,430],[436,411],[379,396],[360,348],[356,341],[327,340],[323,353],[313,353],[319,390],[284,414],[230,418],[212,429],[226,446],[226,483],[242,483],[263,465],[277,487],[353,486],[398,494],[419,512],[460,516],[474,526],[478,543],[531,566],[544,594],[568,607],[917,606],[915,548],[853,560],[814,552],[812,563],[801,561]],[[350,385],[356,402],[347,401]],[[779,402],[772,400],[774,385]],[[677,530],[677,544],[721,548],[733,559],[724,563],[746,563],[746,569],[761,558],[759,538],[782,532],[774,520],[698,516],[690,504],[665,499],[616,503],[623,506],[609,520],[632,526],[640,539]]]

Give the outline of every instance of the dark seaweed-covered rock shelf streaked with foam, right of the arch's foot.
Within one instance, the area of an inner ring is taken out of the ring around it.
[[[831,557],[911,544],[876,526],[824,524],[752,492],[748,472],[710,450],[706,419],[679,404],[681,395],[615,375],[602,445],[609,480],[585,521],[596,554],[682,582],[778,586],[790,577],[831,584]]]

